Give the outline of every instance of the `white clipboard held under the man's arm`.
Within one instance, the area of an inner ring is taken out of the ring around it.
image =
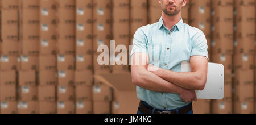
[[[181,72],[191,72],[187,61],[181,63]],[[223,99],[224,98],[224,66],[222,64],[208,63],[207,83],[203,91],[196,91],[197,99]]]

